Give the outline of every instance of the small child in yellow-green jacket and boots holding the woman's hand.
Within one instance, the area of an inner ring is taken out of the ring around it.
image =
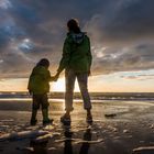
[[[40,106],[42,107],[43,124],[53,122],[53,119],[48,118],[50,103],[47,92],[50,91],[50,81],[53,81],[54,77],[51,76],[48,67],[48,59],[42,58],[33,68],[29,79],[28,89],[33,97],[31,125],[35,125],[37,122],[36,113]]]

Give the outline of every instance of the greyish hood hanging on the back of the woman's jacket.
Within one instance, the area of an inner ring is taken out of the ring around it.
[[[80,32],[80,33],[78,33],[78,34],[72,33],[70,35],[72,35],[73,41],[74,41],[75,43],[80,44],[80,43],[84,41],[84,38],[85,38],[85,34],[86,34],[86,33]]]

